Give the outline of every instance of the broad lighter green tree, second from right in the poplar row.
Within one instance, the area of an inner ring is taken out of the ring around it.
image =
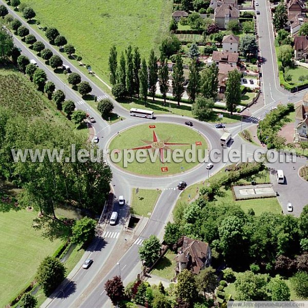
[[[215,62],[201,72],[201,94],[206,99],[216,99],[218,92],[218,67]]]

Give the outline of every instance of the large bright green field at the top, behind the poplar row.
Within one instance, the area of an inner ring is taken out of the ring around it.
[[[146,58],[168,32],[172,14],[170,0],[71,1],[29,0],[42,26],[56,27],[83,57],[83,63],[109,82],[111,45],[121,53],[129,44],[138,46]]]

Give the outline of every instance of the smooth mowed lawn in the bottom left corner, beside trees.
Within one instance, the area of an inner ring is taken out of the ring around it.
[[[37,213],[0,213],[0,307],[4,307],[33,279],[38,265],[60,246],[32,228]]]

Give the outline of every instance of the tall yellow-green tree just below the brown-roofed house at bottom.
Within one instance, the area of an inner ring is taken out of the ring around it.
[[[182,300],[192,303],[198,297],[196,277],[187,269],[178,274],[176,295]]]

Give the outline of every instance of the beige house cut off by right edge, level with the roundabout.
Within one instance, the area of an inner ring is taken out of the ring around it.
[[[308,141],[308,93],[295,108],[294,142]]]

